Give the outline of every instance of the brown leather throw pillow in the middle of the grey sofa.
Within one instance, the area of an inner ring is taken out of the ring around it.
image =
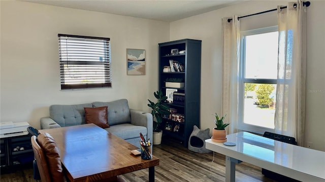
[[[94,123],[102,128],[110,127],[108,125],[108,118],[107,118],[107,108],[108,106],[103,107],[95,107],[95,108],[84,108],[85,116],[86,116],[86,123]]]

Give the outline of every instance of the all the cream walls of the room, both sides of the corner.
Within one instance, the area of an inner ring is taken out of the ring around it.
[[[251,1],[171,24],[160,21],[59,8],[28,2],[0,1],[0,121],[27,121],[39,128],[52,104],[129,100],[131,108],[149,111],[147,99],[158,83],[157,43],[182,38],[202,40],[201,128],[213,128],[221,111],[221,18],[261,12],[287,1]],[[305,141],[325,151],[325,2],[308,7]],[[242,29],[272,26],[276,13],[241,20]],[[110,37],[112,88],[60,91],[57,33]],[[126,49],[146,50],[146,75],[126,75]]]

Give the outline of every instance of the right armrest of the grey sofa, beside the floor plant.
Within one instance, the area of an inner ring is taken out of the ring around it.
[[[153,121],[151,113],[130,109],[131,124],[147,127],[147,139],[152,141]]]

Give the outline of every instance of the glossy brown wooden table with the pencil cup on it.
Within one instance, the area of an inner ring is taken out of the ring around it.
[[[149,168],[154,181],[154,166],[159,159],[142,160],[131,154],[136,146],[94,124],[39,130],[49,133],[61,151],[61,162],[70,181],[96,181]]]

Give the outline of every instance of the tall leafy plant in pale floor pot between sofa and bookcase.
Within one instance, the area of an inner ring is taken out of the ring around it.
[[[159,129],[161,122],[163,122],[163,115],[169,115],[169,106],[167,105],[167,97],[163,95],[161,90],[153,93],[154,97],[158,100],[156,103],[149,101],[148,106],[152,109],[151,114],[153,117],[153,145],[161,144],[161,136],[163,130]]]

